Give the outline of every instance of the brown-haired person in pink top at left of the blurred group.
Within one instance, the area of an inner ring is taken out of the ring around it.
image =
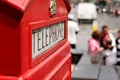
[[[88,40],[88,54],[91,58],[91,63],[99,63],[99,53],[103,51],[100,47],[100,32],[98,30],[94,31],[91,35],[92,37]]]

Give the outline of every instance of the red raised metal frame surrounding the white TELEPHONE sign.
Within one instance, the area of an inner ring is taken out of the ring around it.
[[[51,21],[44,21],[44,22],[35,22],[35,23],[30,23],[30,42],[32,41],[31,39],[31,34],[32,34],[32,31],[33,30],[36,30],[36,29],[39,29],[40,27],[43,28],[43,27],[46,27],[46,26],[49,26],[49,25],[52,25],[52,24],[56,24],[58,22],[64,22],[64,26],[65,26],[65,33],[68,33],[67,32],[67,23],[66,23],[66,20],[67,17],[64,16],[64,17],[59,17],[59,18],[56,18],[54,20],[51,20]],[[41,25],[41,26],[40,26]],[[54,51],[56,51],[57,49],[59,49],[60,47],[62,47],[66,42],[67,42],[67,34],[64,34],[65,35],[65,38],[64,40],[60,41],[59,43],[57,43],[55,46],[53,46],[51,49],[45,51],[44,53],[42,53],[41,55],[39,55],[37,58],[35,58],[34,60],[32,60],[31,58],[31,65],[32,67],[34,67],[35,65],[37,65],[39,62],[41,62],[42,60],[44,60],[46,57],[48,57],[50,54],[52,54]],[[30,43],[31,44],[31,43]],[[32,46],[32,44],[30,45]],[[32,48],[31,48],[32,50]],[[32,52],[30,52],[31,55],[32,55]]]

